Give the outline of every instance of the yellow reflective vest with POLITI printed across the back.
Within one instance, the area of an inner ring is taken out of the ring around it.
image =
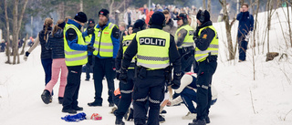
[[[149,28],[137,33],[137,66],[150,69],[170,65],[169,47],[171,35],[161,29]]]

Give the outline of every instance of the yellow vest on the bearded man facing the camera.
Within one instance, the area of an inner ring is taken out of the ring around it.
[[[112,57],[113,56],[113,45],[111,40],[111,32],[113,27],[116,26],[112,23],[106,26],[103,30],[94,26],[95,42],[93,47],[95,51],[93,54],[100,57]]]

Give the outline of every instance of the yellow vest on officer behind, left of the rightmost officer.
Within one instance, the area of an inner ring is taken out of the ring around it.
[[[192,47],[194,45],[194,42],[193,42],[193,27],[189,26],[189,25],[185,25],[185,26],[181,26],[179,29],[176,30],[176,33],[175,33],[175,41],[178,40],[178,33],[181,29],[185,29],[187,31],[187,34],[186,36],[184,37],[183,39],[183,45],[179,48],[182,48],[182,47]]]

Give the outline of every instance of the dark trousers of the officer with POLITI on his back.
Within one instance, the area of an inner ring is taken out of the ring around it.
[[[144,125],[146,121],[146,102],[149,101],[148,125],[159,125],[160,104],[164,99],[164,69],[138,71],[134,83],[133,106],[135,125]]]

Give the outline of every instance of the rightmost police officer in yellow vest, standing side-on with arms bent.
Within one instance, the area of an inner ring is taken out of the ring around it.
[[[197,14],[197,29],[193,35],[195,59],[198,61],[197,78],[197,117],[189,125],[205,125],[210,123],[209,109],[211,106],[212,77],[217,68],[218,36],[212,26],[210,14],[200,10]]]

